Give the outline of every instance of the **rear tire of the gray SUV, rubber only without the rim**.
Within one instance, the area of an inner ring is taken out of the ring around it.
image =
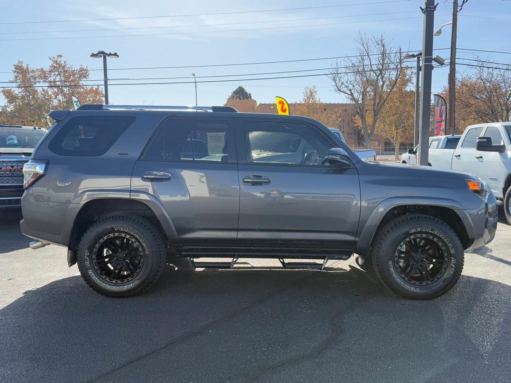
[[[111,233],[129,234],[143,252],[144,263],[134,279],[114,283],[103,279],[94,265],[92,253],[102,237]],[[96,292],[108,297],[131,297],[145,292],[165,266],[166,252],[158,229],[149,221],[128,215],[111,216],[92,224],[83,234],[77,251],[82,278]]]

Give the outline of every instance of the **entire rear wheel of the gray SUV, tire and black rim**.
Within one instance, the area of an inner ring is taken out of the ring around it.
[[[133,216],[103,218],[78,245],[78,269],[87,284],[108,297],[147,290],[165,266],[165,247],[156,227]]]

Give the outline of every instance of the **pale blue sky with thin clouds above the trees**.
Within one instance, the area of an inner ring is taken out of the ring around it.
[[[364,5],[362,3],[379,4]],[[32,66],[46,66],[49,63],[48,57],[57,54],[62,54],[76,66],[83,64],[89,69],[101,69],[101,60],[89,58],[90,53],[97,50],[118,52],[120,55],[120,58],[108,61],[109,78],[111,79],[188,77],[191,73],[195,73],[198,81],[201,81],[199,78],[201,76],[328,68],[332,65],[333,60],[202,68],[114,70],[115,68],[231,64],[346,56],[355,53],[354,37],[359,31],[367,35],[384,32],[389,39],[401,45],[403,49],[406,50],[409,47],[412,50],[420,51],[422,14],[419,6],[422,6],[423,3],[422,0],[393,3],[382,0],[316,2],[305,0],[281,0],[279,2],[267,0],[259,2],[227,0],[215,2],[203,0],[193,2],[175,0],[146,0],[145,2],[0,0],[2,9],[0,15],[0,46],[2,46],[0,72],[10,71],[12,64],[17,60],[23,60]],[[170,16],[332,5],[342,6],[224,15],[5,24],[6,22]],[[451,19],[451,11],[450,1],[439,0],[435,13],[435,29]],[[299,20],[281,21],[290,19]],[[510,21],[511,1],[469,0],[463,8],[458,22],[458,48],[511,52]],[[231,25],[211,26],[213,24]],[[152,27],[158,28],[151,29]],[[124,30],[55,32],[121,28]],[[233,30],[236,31],[232,32]],[[434,47],[448,48],[450,32],[450,27],[446,27],[441,36],[435,37]],[[136,36],[162,33],[169,34]],[[100,37],[111,35],[118,37]],[[79,36],[85,37],[74,38]],[[60,37],[66,38],[60,39]],[[436,54],[444,58],[449,57],[448,50],[438,51]],[[480,53],[480,55],[495,62],[508,62],[511,59],[511,55],[506,54]],[[474,58],[474,55],[459,51],[457,57]],[[458,67],[458,71],[463,70],[470,69]],[[322,73],[322,71],[303,74],[311,73]],[[289,75],[283,74],[282,76]],[[239,78],[255,77],[267,76],[241,76]],[[445,86],[447,77],[447,67],[434,69],[433,92],[438,92]],[[102,72],[91,71],[90,78],[102,79]],[[0,74],[0,81],[10,79],[9,73]],[[233,79],[233,77],[229,79]],[[150,81],[191,80],[147,80],[141,82]],[[112,84],[115,82],[135,81],[111,81]],[[199,83],[198,103],[199,105],[223,105],[229,93],[238,85],[244,86],[258,102],[274,102],[275,95],[281,95],[289,102],[298,101],[304,87],[310,85],[316,85],[319,96],[324,102],[345,101],[341,95],[333,91],[332,84],[327,77],[307,77]],[[189,105],[195,103],[193,84],[112,85],[109,87],[109,93],[112,104]],[[1,95],[0,102],[4,102]]]

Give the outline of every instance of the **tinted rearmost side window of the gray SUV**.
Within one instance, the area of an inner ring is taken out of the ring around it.
[[[53,137],[52,152],[66,156],[100,156],[124,133],[135,116],[88,115],[71,118]]]

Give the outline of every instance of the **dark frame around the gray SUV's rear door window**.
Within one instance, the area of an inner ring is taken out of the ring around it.
[[[221,162],[221,161],[212,161],[212,160],[202,160],[202,159],[179,159],[179,160],[168,160],[168,159],[145,159],[146,153],[151,147],[154,139],[158,136],[159,132],[165,128],[165,125],[169,120],[177,119],[177,120],[184,120],[184,121],[190,121],[190,120],[217,120],[222,121],[227,125],[227,138],[228,138],[228,155],[229,155],[229,161],[228,162]],[[176,115],[176,116],[167,116],[163,118],[160,123],[156,126],[154,129],[154,132],[151,134],[151,137],[146,142],[146,145],[144,146],[144,149],[142,150],[140,156],[138,156],[138,161],[151,161],[151,162],[191,162],[191,163],[217,163],[217,164],[236,164],[238,163],[238,155],[236,150],[236,133],[235,133],[234,125],[233,125],[233,118],[232,117],[224,117],[224,116],[215,116],[215,115],[204,115],[204,116],[183,116],[183,115]]]

